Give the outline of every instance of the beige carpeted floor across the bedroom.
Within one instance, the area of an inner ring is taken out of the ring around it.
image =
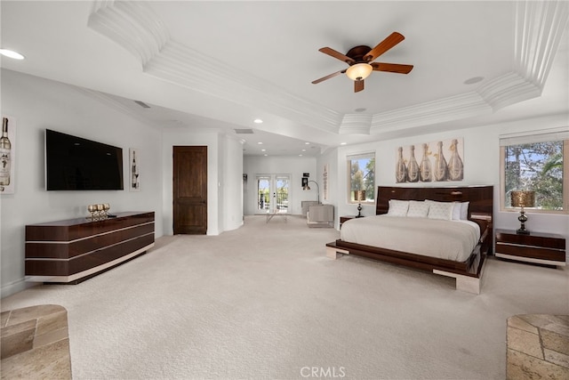
[[[491,259],[481,295],[453,279],[325,257],[333,229],[289,216],[174,236],[76,286],[2,310],[68,310],[75,379],[503,379],[507,319],[569,314],[569,271]]]

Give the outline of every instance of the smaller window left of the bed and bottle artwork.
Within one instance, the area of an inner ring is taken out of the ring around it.
[[[375,153],[348,156],[348,198],[350,203],[375,200]],[[365,190],[365,201],[356,201],[356,191]]]

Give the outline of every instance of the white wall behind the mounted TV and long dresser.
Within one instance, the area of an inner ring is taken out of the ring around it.
[[[0,284],[2,296],[26,287],[26,224],[88,215],[86,206],[109,203],[111,212],[155,211],[156,237],[162,235],[161,133],[95,101],[76,87],[2,70],[2,115],[16,128],[12,144],[15,192],[0,196]],[[44,130],[53,129],[123,148],[124,180],[128,181],[128,149],[137,148],[140,192],[124,189],[44,190]]]

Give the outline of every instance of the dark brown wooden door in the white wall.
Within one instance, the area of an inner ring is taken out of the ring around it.
[[[173,147],[173,230],[207,232],[207,147]]]

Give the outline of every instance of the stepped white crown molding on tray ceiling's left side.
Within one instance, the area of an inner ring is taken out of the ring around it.
[[[88,26],[132,53],[150,76],[247,107],[265,109],[325,132],[338,132],[340,113],[173,41],[164,23],[145,2],[97,0]]]

